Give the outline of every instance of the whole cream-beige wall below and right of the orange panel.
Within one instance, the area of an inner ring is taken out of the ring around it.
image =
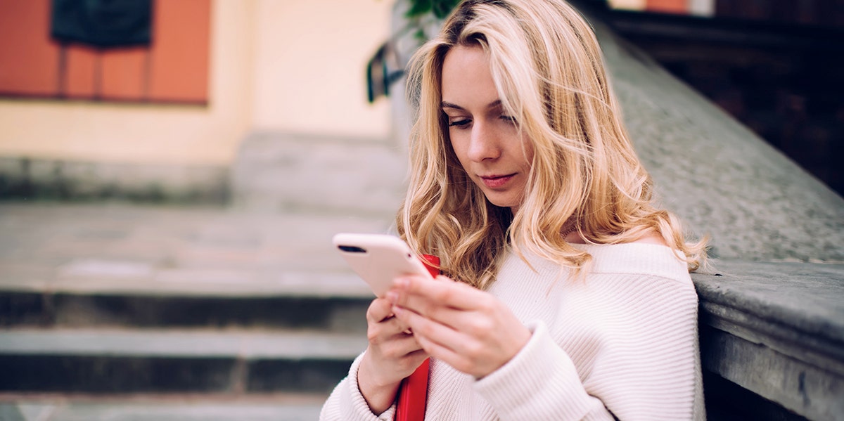
[[[364,64],[387,0],[214,0],[210,103],[0,100],[0,156],[227,165],[253,129],[384,137]]]

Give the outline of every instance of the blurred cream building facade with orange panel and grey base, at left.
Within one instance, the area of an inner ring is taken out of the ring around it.
[[[51,37],[59,3],[0,0],[4,196],[219,201],[250,133],[390,137],[363,74],[390,2],[153,0],[150,45],[116,48]]]

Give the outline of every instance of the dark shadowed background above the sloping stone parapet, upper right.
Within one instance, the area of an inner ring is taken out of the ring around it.
[[[844,195],[844,2],[609,4],[619,35]]]

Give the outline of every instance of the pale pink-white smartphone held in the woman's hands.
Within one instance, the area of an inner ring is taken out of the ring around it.
[[[402,275],[430,277],[428,269],[402,239],[394,235],[334,235],[334,246],[372,292],[383,297],[392,288],[392,280]]]

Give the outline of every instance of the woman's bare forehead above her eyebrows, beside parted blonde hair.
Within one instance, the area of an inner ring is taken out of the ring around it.
[[[498,100],[490,72],[490,59],[480,46],[454,46],[442,62],[441,93],[444,102],[464,108]]]

